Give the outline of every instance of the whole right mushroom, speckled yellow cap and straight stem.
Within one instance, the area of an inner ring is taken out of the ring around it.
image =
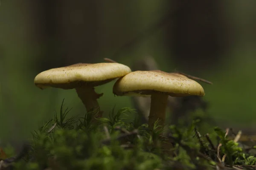
[[[198,82],[181,74],[160,70],[134,71],[116,81],[113,94],[117,96],[151,95],[148,126],[152,130],[157,119],[159,119],[159,125],[164,125],[168,96],[204,96],[204,89]]]

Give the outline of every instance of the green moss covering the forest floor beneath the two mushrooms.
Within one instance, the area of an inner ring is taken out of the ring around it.
[[[90,123],[92,113],[67,119],[69,111],[62,102],[59,116],[55,113],[54,119],[32,132],[31,142],[24,145],[20,154],[0,157],[0,170],[255,168],[256,158],[236,139],[227,139],[227,132],[217,127],[202,136],[198,121],[188,127],[170,126],[165,130],[156,122],[153,130],[148,130],[148,125],[140,125],[136,118],[128,121],[133,112],[128,108],[99,118],[97,124]],[[218,140],[214,142],[211,139],[215,137]]]

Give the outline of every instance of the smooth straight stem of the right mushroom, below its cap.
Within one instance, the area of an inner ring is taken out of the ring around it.
[[[154,123],[159,119],[158,125],[163,126],[166,118],[166,107],[168,102],[168,95],[152,94],[150,113],[148,116],[148,127],[153,130]]]

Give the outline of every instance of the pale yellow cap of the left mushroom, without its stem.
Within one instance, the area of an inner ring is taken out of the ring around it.
[[[84,85],[95,87],[130,72],[128,66],[119,63],[78,63],[43,71],[35,77],[34,83],[42,89],[47,87],[72,89]]]

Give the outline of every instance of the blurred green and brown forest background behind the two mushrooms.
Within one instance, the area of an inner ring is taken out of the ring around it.
[[[18,144],[59,111],[85,111],[75,90],[35,87],[49,68],[108,57],[132,67],[151,56],[162,71],[201,83],[221,127],[256,129],[255,0],[1,0],[0,145]],[[96,88],[106,114],[133,107],[113,82]]]

